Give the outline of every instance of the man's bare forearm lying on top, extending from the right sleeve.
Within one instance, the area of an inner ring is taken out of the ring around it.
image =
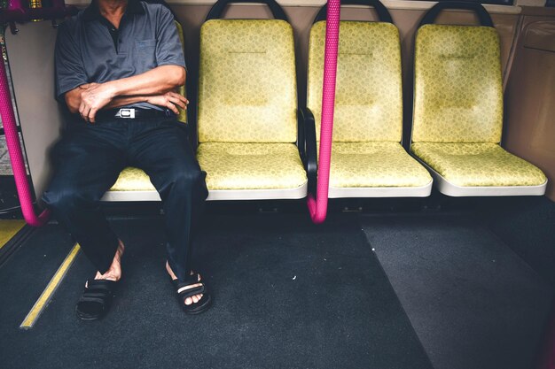
[[[161,65],[148,72],[106,82],[113,98],[165,94],[185,83],[185,69],[179,65]]]

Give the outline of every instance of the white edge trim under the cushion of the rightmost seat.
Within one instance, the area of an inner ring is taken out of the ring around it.
[[[464,197],[464,196],[543,196],[547,188],[547,180],[537,186],[481,186],[481,187],[463,187],[457,186],[445,178],[442,174],[435,172],[435,170],[427,165],[418,157],[417,160],[430,171],[437,189],[447,196]]]

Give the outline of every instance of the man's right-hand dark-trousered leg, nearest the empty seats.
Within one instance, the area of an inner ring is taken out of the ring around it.
[[[206,173],[200,170],[182,123],[145,122],[136,137],[130,145],[131,165],[145,170],[160,193],[166,213],[168,264],[184,281],[191,272],[192,238],[208,194]]]

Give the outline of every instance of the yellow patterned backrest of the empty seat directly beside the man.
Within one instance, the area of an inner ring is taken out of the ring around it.
[[[200,29],[199,142],[296,142],[293,28],[211,19]]]

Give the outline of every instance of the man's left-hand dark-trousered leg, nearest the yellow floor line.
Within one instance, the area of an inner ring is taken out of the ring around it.
[[[43,195],[100,274],[110,270],[119,245],[99,204],[125,165],[119,131],[107,125],[72,129],[52,150],[54,175]]]

